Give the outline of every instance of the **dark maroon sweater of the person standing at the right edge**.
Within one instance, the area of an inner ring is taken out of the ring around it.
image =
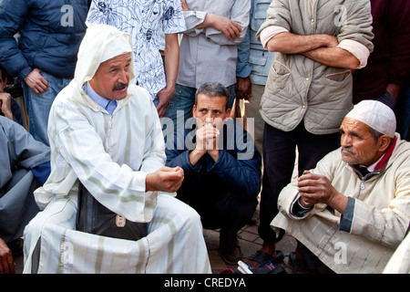
[[[354,103],[381,97],[387,84],[405,84],[410,69],[410,1],[371,0],[374,51],[354,71]]]

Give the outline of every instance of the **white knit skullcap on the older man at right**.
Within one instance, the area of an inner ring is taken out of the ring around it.
[[[390,138],[395,137],[395,112],[383,102],[363,100],[354,106],[346,118],[360,120]]]

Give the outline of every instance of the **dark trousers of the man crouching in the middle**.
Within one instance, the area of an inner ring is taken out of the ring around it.
[[[216,186],[217,187],[217,186]],[[178,194],[177,198],[188,203],[200,214],[205,229],[220,229],[220,249],[230,251],[237,234],[247,224],[255,212],[258,201],[242,201],[231,193]]]

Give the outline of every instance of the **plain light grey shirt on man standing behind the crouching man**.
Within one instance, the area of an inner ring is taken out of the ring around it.
[[[238,47],[249,25],[249,0],[187,0],[190,11],[184,12],[188,30],[184,32],[180,43],[179,85],[198,89],[205,82],[218,81],[225,87],[236,83],[236,61]],[[203,29],[195,26],[203,22],[208,13],[230,18],[241,28],[241,37],[228,40],[215,29]]]

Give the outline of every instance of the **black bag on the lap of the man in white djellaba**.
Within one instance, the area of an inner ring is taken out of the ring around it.
[[[148,235],[147,223],[132,222],[110,211],[82,183],[78,186],[76,226],[89,234],[135,241]]]

